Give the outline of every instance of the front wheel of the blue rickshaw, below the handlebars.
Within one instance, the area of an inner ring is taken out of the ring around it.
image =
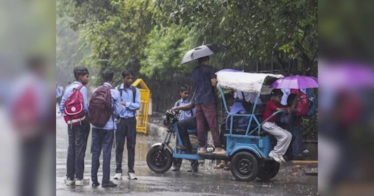
[[[168,149],[160,149],[160,146],[154,146],[147,153],[147,165],[156,173],[168,171],[173,163],[173,157]]]

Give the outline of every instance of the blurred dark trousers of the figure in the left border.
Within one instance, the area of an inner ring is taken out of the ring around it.
[[[19,196],[36,196],[37,180],[40,173],[40,161],[43,153],[45,138],[43,136],[37,139],[21,142],[21,177],[19,184]],[[28,177],[24,175],[27,174]]]

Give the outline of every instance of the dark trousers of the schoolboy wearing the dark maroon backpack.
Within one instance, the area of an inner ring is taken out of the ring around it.
[[[97,181],[99,157],[102,149],[102,184],[109,183],[110,155],[113,145],[114,130],[92,128],[92,181]]]

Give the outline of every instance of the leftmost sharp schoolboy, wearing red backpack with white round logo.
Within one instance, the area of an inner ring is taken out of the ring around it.
[[[83,179],[85,152],[90,132],[88,121],[87,87],[88,69],[79,66],[74,68],[76,81],[65,89],[60,104],[60,112],[68,124],[68,155],[66,185],[84,186],[89,180]]]

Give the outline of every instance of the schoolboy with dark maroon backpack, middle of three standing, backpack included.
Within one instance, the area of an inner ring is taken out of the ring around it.
[[[114,118],[122,111],[119,91],[113,88],[114,73],[110,70],[102,72],[103,85],[93,90],[89,112],[92,124],[92,186],[99,186],[97,171],[102,150],[102,187],[116,187],[110,181],[110,155],[113,145],[114,130],[117,129]],[[104,107],[103,107],[104,106]]]

